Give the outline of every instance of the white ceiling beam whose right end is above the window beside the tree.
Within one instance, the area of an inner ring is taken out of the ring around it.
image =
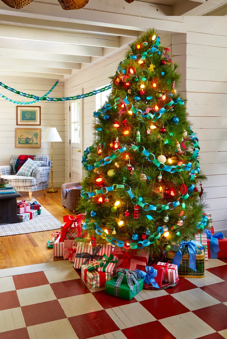
[[[39,41],[14,40],[0,38],[1,48],[19,49],[20,51],[47,52],[64,55],[83,55],[102,57],[102,47],[80,46]],[[29,57],[29,56],[28,56]]]

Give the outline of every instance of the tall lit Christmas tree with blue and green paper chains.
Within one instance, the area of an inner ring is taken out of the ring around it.
[[[94,143],[82,157],[78,208],[88,239],[154,255],[194,239],[206,179],[176,91],[177,65],[159,40],[154,29],[138,37],[110,77],[111,94],[94,112]]]

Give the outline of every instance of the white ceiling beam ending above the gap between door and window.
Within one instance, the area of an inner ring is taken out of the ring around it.
[[[39,52],[39,51],[29,51],[29,55],[27,51],[19,51],[17,50],[17,46],[14,46],[15,49],[5,49],[1,48],[0,45],[0,56],[5,58],[14,58],[17,56],[19,59],[29,59],[29,60],[43,60],[43,61],[59,61],[65,63],[90,63],[91,57],[85,56],[77,56],[77,55],[64,55],[64,54],[56,54],[56,53],[48,53],[48,52]],[[59,66],[58,66],[59,67]],[[59,67],[61,68],[61,67]],[[74,68],[74,67],[66,67],[66,68]]]

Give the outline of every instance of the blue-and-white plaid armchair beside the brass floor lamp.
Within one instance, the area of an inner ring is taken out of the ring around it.
[[[17,191],[29,192],[29,200],[31,200],[32,192],[34,191],[43,190],[44,194],[46,194],[51,165],[49,158],[46,155],[37,155],[34,157],[34,160],[43,161],[43,165],[35,168],[31,177],[16,175],[14,167],[17,158],[18,155],[12,155],[8,166],[0,166],[0,175],[8,179]]]

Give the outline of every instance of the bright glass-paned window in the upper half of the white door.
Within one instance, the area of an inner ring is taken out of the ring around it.
[[[80,143],[80,100],[71,102],[71,142]]]

